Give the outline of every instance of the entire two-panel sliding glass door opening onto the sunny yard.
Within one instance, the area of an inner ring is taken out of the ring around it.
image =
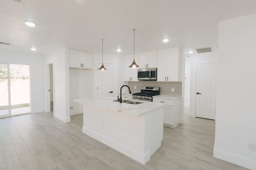
[[[30,113],[29,65],[0,63],[0,117]]]

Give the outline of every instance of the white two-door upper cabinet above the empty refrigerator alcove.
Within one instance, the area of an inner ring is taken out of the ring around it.
[[[78,69],[92,69],[92,54],[69,49],[69,67]]]

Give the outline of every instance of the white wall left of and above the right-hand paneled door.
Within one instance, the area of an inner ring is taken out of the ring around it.
[[[190,56],[190,114],[196,117],[196,64],[217,63],[218,52],[198,53]],[[218,72],[218,71],[217,71]]]

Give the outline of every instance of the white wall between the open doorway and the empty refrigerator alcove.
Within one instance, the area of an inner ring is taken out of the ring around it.
[[[54,73],[54,117],[69,122],[69,55],[62,48],[44,57],[44,63],[53,63]],[[45,92],[45,91],[44,91]]]

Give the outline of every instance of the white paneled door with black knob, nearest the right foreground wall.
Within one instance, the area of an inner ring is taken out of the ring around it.
[[[216,63],[196,65],[196,117],[215,120]]]

